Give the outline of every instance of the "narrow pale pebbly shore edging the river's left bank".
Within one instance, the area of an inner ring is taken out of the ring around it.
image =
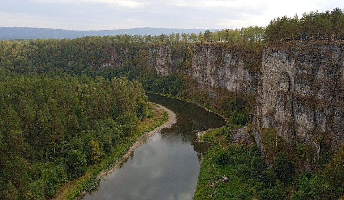
[[[135,151],[135,149],[137,149],[138,147],[140,147],[142,144],[146,143],[147,139],[151,136],[153,136],[155,133],[159,132],[160,130],[166,128],[166,127],[170,127],[173,124],[175,124],[177,122],[177,115],[171,111],[170,109],[163,107],[162,105],[156,104],[156,103],[152,103],[154,105],[157,106],[157,109],[159,110],[165,110],[169,116],[169,119],[167,122],[165,122],[164,124],[162,124],[161,126],[155,128],[154,130],[145,133],[143,135],[141,135],[141,137],[138,138],[137,142],[135,144],[133,144],[129,151],[124,154],[122,156],[122,158],[120,160],[118,160],[118,162],[109,170],[107,171],[102,171],[100,174],[98,174],[99,178],[103,178],[109,174],[111,174],[112,171],[114,171],[116,169],[116,167],[118,167],[123,161],[125,161],[126,159],[128,159],[130,157],[130,155]],[[81,199],[80,197],[83,197],[84,195],[86,195],[86,191],[83,191],[80,196],[78,198],[75,199]]]

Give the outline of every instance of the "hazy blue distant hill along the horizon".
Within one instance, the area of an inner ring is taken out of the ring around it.
[[[25,27],[0,27],[0,40],[14,39],[37,39],[37,38],[76,38],[83,36],[104,36],[104,35],[160,35],[171,33],[200,33],[206,29],[163,29],[163,28],[134,28],[119,30],[103,31],[75,31],[61,29],[44,29],[44,28],[25,28]],[[218,29],[208,29],[215,31]]]

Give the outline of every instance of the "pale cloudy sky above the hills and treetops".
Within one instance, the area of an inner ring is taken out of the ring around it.
[[[335,7],[344,0],[0,0],[0,27],[235,29]]]

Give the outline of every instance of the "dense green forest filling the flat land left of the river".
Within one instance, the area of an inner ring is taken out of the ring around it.
[[[54,197],[148,114],[141,83],[123,77],[23,75],[2,67],[0,91],[0,199]]]

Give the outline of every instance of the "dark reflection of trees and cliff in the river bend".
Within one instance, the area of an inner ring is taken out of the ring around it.
[[[177,115],[177,123],[172,127],[161,131],[163,139],[166,141],[181,140],[190,142],[194,146],[194,150],[198,153],[197,159],[200,161],[207,151],[209,145],[197,141],[195,131],[206,131],[211,128],[221,127],[225,125],[225,121],[221,116],[206,111],[197,104],[182,101],[179,99],[164,97],[157,94],[147,94],[149,101],[158,103],[164,107],[171,109]],[[168,136],[164,133],[169,133]],[[173,133],[173,135],[171,134]],[[199,157],[199,158],[198,158]]]

